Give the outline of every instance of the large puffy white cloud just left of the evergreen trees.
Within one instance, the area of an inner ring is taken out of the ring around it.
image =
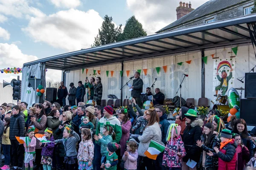
[[[102,17],[93,9],[87,12],[70,9],[49,16],[31,17],[29,25],[22,30],[35,42],[46,42],[55,48],[75,51],[90,48],[102,21]]]

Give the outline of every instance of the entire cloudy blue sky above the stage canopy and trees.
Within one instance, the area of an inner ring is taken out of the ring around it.
[[[208,0],[191,1],[192,8]],[[90,48],[107,14],[116,25],[135,15],[147,34],[176,20],[180,0],[0,0],[0,69]],[[186,2],[186,1],[185,1]],[[189,3],[189,1],[187,1]],[[20,74],[19,74],[20,75]],[[10,82],[15,74],[1,74]],[[61,80],[48,70],[47,78]]]

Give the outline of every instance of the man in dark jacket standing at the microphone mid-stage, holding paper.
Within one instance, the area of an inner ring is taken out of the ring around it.
[[[143,80],[140,78],[140,73],[137,71],[134,73],[134,78],[135,79],[133,80],[133,84],[131,86],[131,88],[132,88],[131,96],[137,101],[137,104],[141,108],[142,103],[140,101],[140,95],[143,90]]]

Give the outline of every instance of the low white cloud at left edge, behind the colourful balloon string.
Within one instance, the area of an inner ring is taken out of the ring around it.
[[[0,70],[4,68],[22,68],[23,63],[31,62],[38,59],[36,56],[23,54],[22,51],[15,44],[0,43]],[[11,82],[13,78],[17,79],[17,75],[22,74],[6,74],[0,73],[0,82],[3,79],[7,82]]]

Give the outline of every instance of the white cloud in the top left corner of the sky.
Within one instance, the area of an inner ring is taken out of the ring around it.
[[[29,6],[29,0],[0,0],[0,13],[21,18],[26,15],[42,17],[44,13],[38,8]]]

